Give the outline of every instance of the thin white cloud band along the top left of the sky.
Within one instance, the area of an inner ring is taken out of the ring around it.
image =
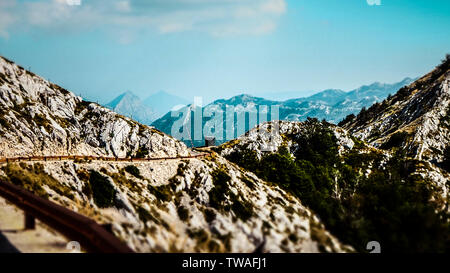
[[[262,35],[274,31],[285,0],[1,0],[0,35],[8,30],[83,31],[92,28],[213,36]]]

